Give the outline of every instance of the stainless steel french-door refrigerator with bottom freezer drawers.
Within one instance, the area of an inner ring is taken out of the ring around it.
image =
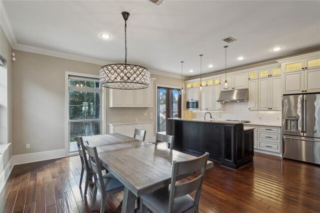
[[[320,93],[282,97],[282,156],[320,164]]]

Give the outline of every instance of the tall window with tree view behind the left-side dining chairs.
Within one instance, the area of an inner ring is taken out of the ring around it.
[[[100,134],[102,89],[97,78],[68,77],[69,152],[77,151],[74,135]]]

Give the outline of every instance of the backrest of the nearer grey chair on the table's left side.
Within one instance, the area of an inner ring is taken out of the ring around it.
[[[89,155],[89,160],[92,166],[92,173],[93,173],[93,177],[94,180],[96,180],[97,178],[99,178],[98,181],[100,181],[100,190],[103,191],[105,190],[105,185],[104,185],[104,181],[103,181],[103,177],[102,177],[102,171],[101,171],[101,166],[100,166],[100,162],[99,162],[99,157],[98,157],[98,153],[96,151],[96,147],[95,146],[89,146],[88,144],[86,145],[86,150],[88,151],[88,155]],[[96,184],[96,186],[98,186]]]

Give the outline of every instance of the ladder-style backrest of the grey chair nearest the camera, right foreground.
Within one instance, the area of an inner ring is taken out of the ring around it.
[[[172,212],[173,210],[174,198],[184,196],[193,191],[196,191],[194,205],[196,208],[198,207],[208,155],[209,153],[205,152],[205,154],[195,159],[173,161],[168,212]],[[175,183],[177,180],[193,175],[194,173],[199,173],[199,175],[192,180],[179,184]]]

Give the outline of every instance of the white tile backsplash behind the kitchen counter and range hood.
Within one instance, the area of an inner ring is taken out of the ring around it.
[[[208,110],[209,111],[209,110]],[[183,118],[203,119],[206,111],[185,110]],[[281,124],[281,111],[250,111],[248,102],[228,102],[224,103],[224,111],[209,111],[216,120],[237,119],[250,120],[261,124]],[[209,118],[209,115],[207,115]]]

